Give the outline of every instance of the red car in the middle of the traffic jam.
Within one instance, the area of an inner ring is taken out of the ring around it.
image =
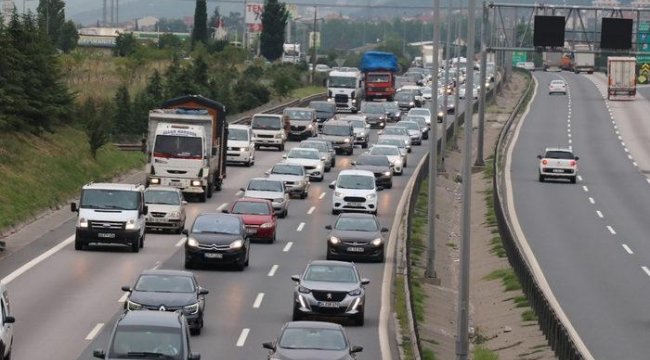
[[[242,198],[233,202],[223,212],[241,215],[251,240],[262,240],[269,244],[275,241],[278,218],[270,200]]]

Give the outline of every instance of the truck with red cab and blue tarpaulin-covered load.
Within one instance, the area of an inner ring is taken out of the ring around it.
[[[395,97],[395,74],[399,70],[397,57],[393,53],[367,51],[361,57],[359,69],[363,73],[366,101]]]

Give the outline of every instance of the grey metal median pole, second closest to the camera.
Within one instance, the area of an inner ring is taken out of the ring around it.
[[[406,39],[404,39],[406,40]],[[429,245],[427,251],[426,277],[436,279],[436,178],[438,177],[438,71],[440,64],[440,0],[433,0],[433,69],[431,70],[431,141],[429,144],[429,204],[427,219],[429,221]],[[433,122],[433,114],[436,121]],[[444,137],[444,135],[443,135]]]

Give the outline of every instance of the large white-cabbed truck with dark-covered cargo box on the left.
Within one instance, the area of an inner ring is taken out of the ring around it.
[[[147,186],[172,186],[201,202],[226,177],[225,107],[202,96],[171,99],[149,111]]]

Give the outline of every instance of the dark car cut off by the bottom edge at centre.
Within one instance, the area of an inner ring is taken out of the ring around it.
[[[262,347],[270,350],[267,359],[282,360],[354,360],[363,351],[350,344],[341,325],[323,321],[288,322],[276,340]]]

